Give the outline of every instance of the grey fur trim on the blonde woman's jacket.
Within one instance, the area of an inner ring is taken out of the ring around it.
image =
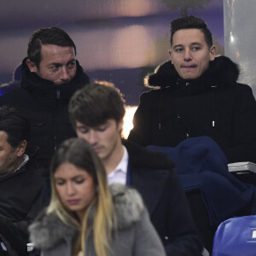
[[[143,199],[136,189],[122,184],[109,186],[113,196],[113,205],[117,217],[117,229],[125,230],[140,220],[145,209]],[[71,240],[77,236],[78,230],[74,224],[64,224],[55,212],[43,212],[29,226],[30,241],[39,249],[55,247],[63,240]]]

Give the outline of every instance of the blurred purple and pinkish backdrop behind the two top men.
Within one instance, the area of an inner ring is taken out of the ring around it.
[[[137,106],[143,77],[169,58],[170,22],[182,15],[206,20],[224,54],[223,0],[1,0],[0,84],[12,79],[32,32],[59,26],[90,79],[113,82]]]

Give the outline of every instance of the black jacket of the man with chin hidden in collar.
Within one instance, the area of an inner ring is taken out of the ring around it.
[[[68,84],[55,85],[31,73],[22,62],[20,88],[0,96],[0,105],[21,108],[31,121],[29,143],[39,146],[38,161],[45,167],[58,145],[75,132],[69,121],[67,107],[73,93],[89,83],[89,77],[77,61],[77,73]]]

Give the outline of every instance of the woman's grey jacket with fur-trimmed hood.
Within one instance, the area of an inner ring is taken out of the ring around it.
[[[164,248],[148,218],[141,196],[135,189],[121,184],[110,186],[117,228],[113,230],[110,245],[111,256],[164,256]],[[93,216],[91,218],[91,221]],[[31,241],[41,249],[41,255],[72,255],[72,240],[78,235],[77,228],[64,224],[55,212],[43,213],[29,227]],[[92,231],[86,238],[84,255],[96,256]]]

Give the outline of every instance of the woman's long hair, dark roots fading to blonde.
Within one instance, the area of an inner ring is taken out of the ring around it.
[[[82,227],[76,214],[62,204],[55,188],[55,171],[64,163],[71,163],[84,169],[94,180],[96,195],[87,207]],[[107,256],[111,249],[110,242],[112,230],[115,228],[115,215],[112,195],[108,189],[106,171],[94,149],[81,138],[72,138],[62,143],[52,159],[50,179],[52,195],[47,214],[55,212],[65,224],[72,222],[78,226],[80,234],[77,245],[83,252],[85,251],[86,237],[92,229],[97,256]]]

